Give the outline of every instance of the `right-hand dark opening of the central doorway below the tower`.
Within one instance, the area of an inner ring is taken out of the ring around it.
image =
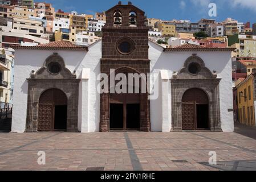
[[[140,129],[140,104],[127,104],[127,129]]]

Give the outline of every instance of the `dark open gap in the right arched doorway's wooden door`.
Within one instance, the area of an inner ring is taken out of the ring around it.
[[[209,128],[208,110],[206,104],[197,105],[197,129]]]

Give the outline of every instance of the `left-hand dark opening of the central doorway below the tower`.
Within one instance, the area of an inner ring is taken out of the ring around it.
[[[110,104],[110,128],[112,130],[124,128],[124,105]]]

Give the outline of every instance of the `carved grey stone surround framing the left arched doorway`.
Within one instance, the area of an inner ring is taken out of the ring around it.
[[[58,74],[52,74],[47,66],[52,61],[60,64],[61,71]],[[67,131],[78,131],[78,94],[80,79],[71,73],[64,64],[64,60],[57,53],[49,56],[42,68],[36,73],[31,73],[27,79],[29,83],[28,101],[27,101],[27,121],[26,132],[38,131],[38,102],[41,94],[52,88],[62,90],[67,96]]]

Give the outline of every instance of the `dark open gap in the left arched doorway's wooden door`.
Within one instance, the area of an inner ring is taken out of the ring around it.
[[[67,130],[67,106],[55,106],[54,129]]]

